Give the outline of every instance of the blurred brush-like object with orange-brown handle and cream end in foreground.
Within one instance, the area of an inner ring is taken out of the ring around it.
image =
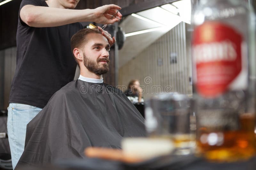
[[[88,147],[84,153],[88,157],[118,160],[127,163],[168,155],[174,150],[170,140],[151,138],[124,138],[121,149]]]

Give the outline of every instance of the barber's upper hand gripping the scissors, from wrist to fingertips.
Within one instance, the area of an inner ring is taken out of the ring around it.
[[[121,7],[111,4],[103,5],[98,8],[93,9],[94,19],[93,22],[99,24],[113,24],[122,19],[122,14],[118,11],[117,14],[112,18],[112,15],[116,13],[117,10],[120,10]],[[119,19],[118,19],[119,18]]]

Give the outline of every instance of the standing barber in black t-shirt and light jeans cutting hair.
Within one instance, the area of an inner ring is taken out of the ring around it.
[[[28,122],[56,91],[74,78],[77,64],[70,51],[70,39],[83,28],[78,22],[113,24],[122,19],[121,13],[116,13],[121,9],[117,5],[74,10],[78,2],[22,0],[20,4],[17,66],[7,121],[13,169],[24,150]],[[108,32],[101,31],[110,45],[116,42]]]

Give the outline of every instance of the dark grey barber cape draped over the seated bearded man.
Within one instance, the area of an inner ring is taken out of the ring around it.
[[[16,168],[85,157],[88,146],[121,148],[123,137],[145,135],[144,118],[121,90],[72,81],[28,123],[25,150]]]

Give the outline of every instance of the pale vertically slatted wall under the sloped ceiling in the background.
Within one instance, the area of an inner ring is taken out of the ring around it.
[[[171,63],[171,56],[175,55],[177,63]],[[123,87],[130,80],[139,79],[145,99],[164,92],[192,94],[190,60],[182,22],[121,67],[118,84]]]

